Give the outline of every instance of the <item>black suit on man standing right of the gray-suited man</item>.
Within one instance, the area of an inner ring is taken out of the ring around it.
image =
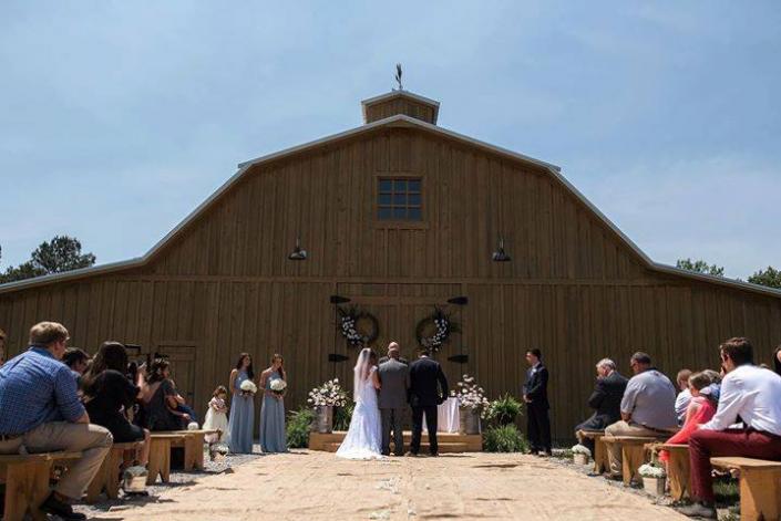
[[[420,451],[420,438],[423,431],[423,415],[429,429],[429,451],[438,454],[436,444],[436,406],[448,399],[448,378],[442,366],[428,356],[410,364],[410,405],[412,406],[412,442],[410,452]]]

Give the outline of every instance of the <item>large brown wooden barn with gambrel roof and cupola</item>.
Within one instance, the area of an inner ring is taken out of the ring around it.
[[[781,342],[781,292],[655,263],[558,167],[439,127],[439,103],[405,91],[362,108],[360,127],[240,164],[143,257],[0,286],[11,354],[40,320],[89,351],[141,344],[171,356],[203,411],[239,352],[256,367],[279,352],[292,407],[335,371],[350,382],[358,350],[335,334],[331,295],[405,356],[439,305],[462,326],[438,354],[452,384],[469,372],[491,397],[518,395],[525,350],[539,347],[554,436],[568,438],[604,356],[626,373],[645,350],[674,375],[717,366],[729,336],[762,358]],[[289,259],[298,238],[306,260]],[[507,262],[493,260],[500,238]]]

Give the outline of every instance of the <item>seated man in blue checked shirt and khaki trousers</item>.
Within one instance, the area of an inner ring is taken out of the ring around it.
[[[112,437],[90,425],[76,395],[71,371],[60,362],[68,330],[56,322],[41,322],[30,330],[30,348],[0,367],[0,454],[73,451],[82,457],[68,465],[41,510],[64,520],[86,519],[69,501],[81,499],[103,463]]]

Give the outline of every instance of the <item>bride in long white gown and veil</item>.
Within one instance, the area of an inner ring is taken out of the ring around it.
[[[354,371],[356,409],[345,441],[337,450],[338,458],[382,459],[380,409],[377,406],[377,354],[369,347],[361,350]]]

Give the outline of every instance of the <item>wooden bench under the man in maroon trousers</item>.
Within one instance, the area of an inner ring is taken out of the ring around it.
[[[740,471],[741,521],[781,520],[781,461],[723,456],[710,465]]]

